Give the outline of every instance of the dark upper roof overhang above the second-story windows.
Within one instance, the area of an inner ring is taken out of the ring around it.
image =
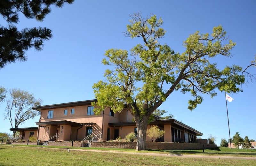
[[[82,106],[82,105],[91,105],[92,102],[97,102],[97,99],[85,100],[85,101],[79,101],[79,102],[67,102],[67,103],[61,103],[61,104],[44,105],[44,106],[32,107],[32,109],[41,112],[41,110],[43,109],[56,109],[56,108],[75,107],[75,106]]]

